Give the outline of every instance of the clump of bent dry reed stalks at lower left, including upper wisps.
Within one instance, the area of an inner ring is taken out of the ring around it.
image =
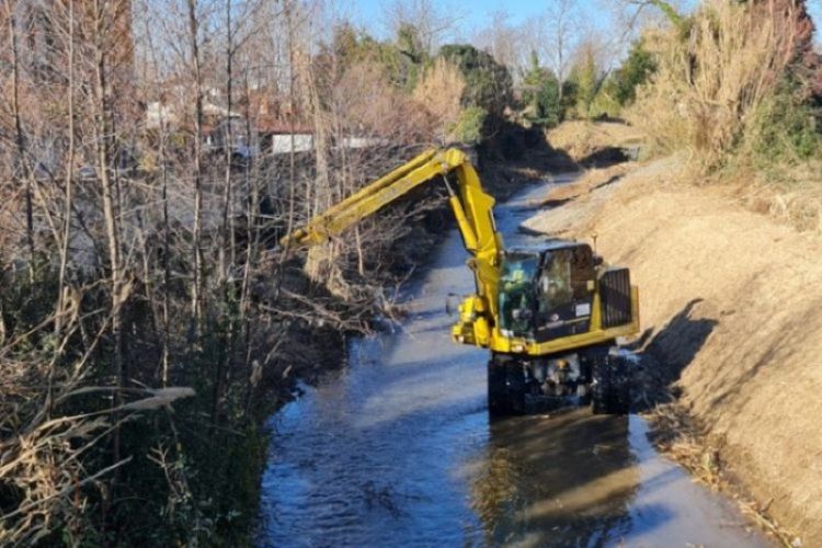
[[[185,387],[128,389],[118,406],[102,400],[96,411],[67,411],[80,398],[110,398],[117,388],[88,384],[89,358],[102,333],[71,364],[58,366],[59,351],[21,350],[53,321],[0,345],[0,546],[33,545],[56,528],[76,541],[88,525],[90,491],[105,498],[112,473],[132,459],[101,463],[94,453],[135,413],[194,396]],[[71,316],[60,351],[79,329]]]

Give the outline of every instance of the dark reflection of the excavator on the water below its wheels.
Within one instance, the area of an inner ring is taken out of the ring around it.
[[[630,529],[639,471],[627,416],[575,409],[494,421],[469,466],[471,505],[490,544],[600,546]]]

